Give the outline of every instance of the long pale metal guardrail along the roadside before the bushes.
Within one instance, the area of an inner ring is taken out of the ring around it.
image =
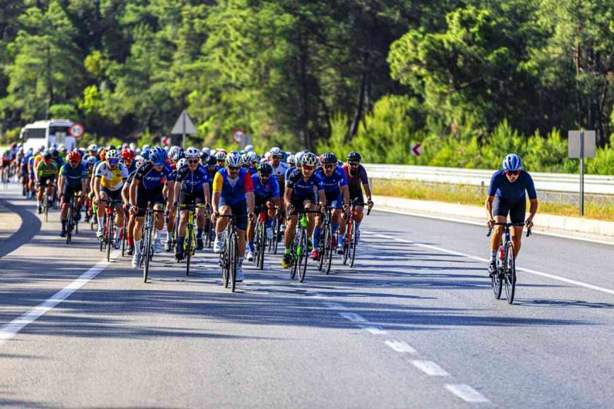
[[[495,170],[440,168],[435,166],[363,164],[373,179],[396,179],[401,181],[422,181],[450,183],[455,185],[486,186]],[[537,190],[578,193],[580,176],[572,173],[531,172]],[[614,175],[584,176],[584,192],[594,195],[614,195]]]

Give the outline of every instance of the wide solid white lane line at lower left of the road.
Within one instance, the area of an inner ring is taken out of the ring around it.
[[[113,258],[116,258],[119,255],[119,250],[114,250]],[[72,293],[77,291],[79,288],[83,287],[85,283],[93,279],[95,276],[100,274],[107,266],[109,262],[106,260],[97,262],[94,267],[85,271],[85,273],[81,274],[78,279],[69,283],[66,287],[62,288],[60,291],[52,295],[47,300],[44,300],[42,303],[32,308],[32,310],[25,312],[23,315],[20,315],[13,321],[9,322],[0,327],[0,346],[4,345],[11,338],[16,336],[19,331],[35,322],[37,319],[42,317],[45,312],[51,310],[53,307],[66,300],[66,298],[70,297]]]

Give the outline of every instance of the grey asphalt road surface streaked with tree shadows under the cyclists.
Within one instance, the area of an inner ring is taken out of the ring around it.
[[[486,228],[373,212],[356,268],[299,283],[267,255],[233,294],[210,251],[190,277],[157,255],[143,283],[16,193],[0,191],[22,220],[0,238],[1,405],[614,407],[614,246],[524,239],[507,305]]]

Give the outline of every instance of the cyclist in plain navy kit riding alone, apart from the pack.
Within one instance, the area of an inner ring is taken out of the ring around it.
[[[529,217],[525,220],[526,194],[529,195]],[[495,226],[495,223],[507,223],[507,215],[513,224],[524,224],[527,228],[533,227],[533,218],[537,213],[537,193],[533,178],[528,172],[522,170],[522,160],[517,154],[508,154],[503,159],[503,169],[493,173],[488,188],[488,198],[485,202],[488,215],[488,227],[495,228],[490,237],[490,262],[488,273],[497,271],[497,250],[501,245],[501,238],[505,228]],[[514,260],[520,252],[522,242],[522,226],[512,226],[511,235],[514,245]]]

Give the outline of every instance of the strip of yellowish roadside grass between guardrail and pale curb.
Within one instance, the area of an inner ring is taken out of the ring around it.
[[[445,183],[423,183],[418,181],[392,181],[373,179],[374,195],[405,197],[407,199],[433,200],[483,206],[487,188],[472,185],[450,185]],[[543,200],[538,192],[539,213],[558,214],[560,216],[578,217],[577,203],[561,203]],[[527,200],[527,209],[529,201]],[[614,221],[614,197],[597,197],[589,195],[584,198],[584,217],[604,221]]]

